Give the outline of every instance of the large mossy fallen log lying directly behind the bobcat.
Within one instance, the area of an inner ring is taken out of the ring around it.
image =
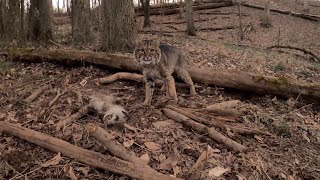
[[[48,61],[73,66],[94,64],[99,67],[123,71],[140,71],[138,64],[130,57],[91,51],[11,49],[8,53],[4,52],[1,54],[8,56],[8,59],[13,61]],[[217,85],[261,94],[274,94],[286,97],[302,95],[320,98],[320,83],[307,83],[285,77],[262,76],[235,70],[221,70],[220,68],[189,68],[188,71],[196,83]]]

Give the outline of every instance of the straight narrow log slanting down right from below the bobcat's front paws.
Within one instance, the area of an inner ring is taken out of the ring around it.
[[[175,111],[173,111],[171,109],[167,109],[167,108],[164,108],[163,112],[168,118],[173,119],[175,121],[178,121],[178,122],[184,124],[185,126],[188,126],[192,129],[196,130],[199,133],[207,133],[209,135],[209,137],[211,137],[212,139],[214,139],[215,141],[217,141],[221,144],[226,145],[229,149],[232,149],[236,152],[245,151],[247,149],[245,146],[233,141],[230,138],[227,138],[226,136],[224,136],[223,134],[214,130],[213,128],[209,128],[203,124],[195,122],[195,121],[191,120],[190,118],[188,118],[187,116],[184,116],[178,112],[175,112]]]

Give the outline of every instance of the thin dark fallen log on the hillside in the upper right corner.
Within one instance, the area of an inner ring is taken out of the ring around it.
[[[249,8],[264,10],[263,6],[258,6],[258,5],[254,5],[254,4],[248,4],[248,3],[243,3],[242,5],[245,7],[249,7]],[[320,16],[316,16],[316,15],[303,14],[303,13],[292,12],[292,11],[287,11],[287,10],[280,10],[280,9],[270,9],[270,11],[277,12],[280,14],[290,15],[290,16],[294,16],[294,17],[299,17],[299,18],[310,20],[310,21],[316,21],[316,22],[320,21]]]

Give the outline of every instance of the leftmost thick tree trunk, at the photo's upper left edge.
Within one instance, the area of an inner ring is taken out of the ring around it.
[[[5,24],[5,39],[8,42],[20,39],[20,0],[10,0]]]

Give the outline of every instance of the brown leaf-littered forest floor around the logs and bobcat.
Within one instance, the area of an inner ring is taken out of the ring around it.
[[[247,2],[257,3],[254,0]],[[281,9],[288,7],[284,1],[273,2]],[[300,12],[302,5],[290,6],[289,9]],[[220,67],[262,75],[287,76],[308,82],[319,81],[320,63],[312,57],[291,50],[266,50],[266,47],[279,42],[281,45],[306,48],[320,55],[319,22],[272,13],[273,26],[266,29],[260,26],[262,10],[247,7],[242,7],[242,10],[244,24],[251,24],[253,27],[243,41],[239,40],[238,29],[199,31],[196,37],[173,32],[169,33],[173,36],[163,36],[162,41],[183,49],[190,65],[196,67]],[[215,14],[203,14],[206,12]],[[319,15],[320,7],[312,7],[311,12]],[[196,11],[195,20],[212,20],[196,22],[195,25],[197,28],[238,26],[236,13],[237,7]],[[185,24],[166,24],[182,21],[177,17],[151,16],[152,26],[147,29],[139,28],[139,36],[150,36],[142,31],[184,30]],[[138,17],[139,27],[142,22],[143,17]],[[70,37],[70,29],[70,24],[56,26],[59,37],[56,41],[64,44]],[[95,45],[80,48],[94,49]],[[197,84],[198,95],[190,97],[187,89],[177,88],[179,106],[192,108],[196,115],[206,119],[214,118],[213,114],[204,111],[208,105],[240,100],[241,103],[235,110],[242,116],[237,122],[271,133],[270,136],[240,135],[222,130],[226,136],[249,147],[246,153],[234,153],[206,134],[199,134],[166,118],[161,109],[141,106],[144,100],[142,83],[117,81],[97,85],[94,82],[96,78],[111,75],[114,71],[92,66],[71,68],[49,63],[25,64],[5,59],[0,61],[0,69],[0,120],[18,123],[77,146],[108,154],[105,147],[83,127],[88,122],[94,122],[106,127],[120,143],[136,156],[148,161],[152,168],[179,178],[186,178],[186,173],[200,155],[210,151],[211,156],[198,169],[193,179],[320,179],[318,102],[300,97],[287,99],[263,96],[201,84]],[[23,102],[31,93],[47,84],[51,84],[52,88],[34,102]],[[37,118],[37,114],[46,109],[54,99],[58,89],[64,94],[44,116]],[[55,129],[55,123],[88,104],[89,96],[96,92],[113,94],[122,99],[119,103],[128,110],[130,116],[128,127],[107,127],[101,117],[89,113],[63,131]],[[156,90],[153,104],[163,96],[163,92]],[[79,179],[128,179],[64,156],[56,165],[41,167],[41,164],[56,156],[56,153],[10,135],[1,136],[0,142],[0,179],[66,179],[72,177],[72,173]],[[150,142],[157,147],[148,145]]]

